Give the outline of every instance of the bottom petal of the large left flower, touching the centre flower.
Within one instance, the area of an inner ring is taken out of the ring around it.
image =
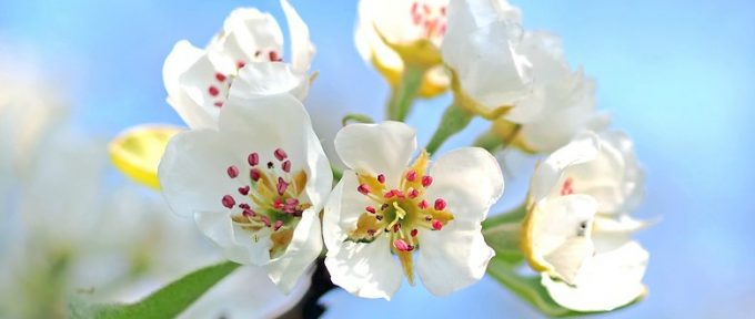
[[[294,288],[302,274],[310,268],[312,261],[322,251],[319,213],[320,209],[306,209],[296,225],[285,253],[265,266],[270,279],[284,294],[289,294]]]

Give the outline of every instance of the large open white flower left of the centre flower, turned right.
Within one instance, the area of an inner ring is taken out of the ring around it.
[[[163,195],[230,260],[264,266],[289,291],[322,248],[332,173],[299,100],[230,99],[219,130],[179,133],[158,169]]]

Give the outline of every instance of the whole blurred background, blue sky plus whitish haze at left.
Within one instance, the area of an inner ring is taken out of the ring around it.
[[[341,114],[359,112],[381,119],[387,86],[354,49],[356,1],[291,2],[309,24],[318,48],[313,70],[320,76],[306,106],[333,154],[332,137]],[[600,107],[612,113],[613,127],[634,137],[647,171],[646,200],[637,215],[661,217],[661,223],[637,236],[651,251],[645,277],[650,295],[634,307],[604,317],[742,318],[753,313],[755,4],[745,0],[512,3],[522,9],[525,28],[561,35],[572,65],[582,65],[597,80]],[[181,39],[203,47],[226,14],[241,6],[272,12],[285,28],[274,0],[0,0],[0,102],[8,96],[26,101],[16,109],[0,109],[0,162],[8,164],[0,166],[0,299],[8,303],[23,298],[16,285],[52,285],[31,275],[21,280],[10,269],[12,265],[18,268],[19,260],[40,266],[31,251],[43,249],[54,250],[56,260],[64,263],[70,247],[39,248],[59,241],[50,239],[59,238],[54,236],[83,237],[70,239],[76,245],[124,233],[113,243],[88,248],[99,251],[92,254],[100,256],[101,264],[80,266],[77,269],[84,270],[77,280],[81,281],[70,284],[88,287],[97,285],[97,276],[114,276],[103,269],[125,274],[141,269],[138,257],[142,253],[102,257],[107,251],[133,249],[134,241],[160,231],[170,231],[165,236],[170,238],[148,243],[179,240],[172,234],[193,230],[191,223],[172,216],[164,217],[169,218],[164,224],[174,230],[144,227],[140,220],[148,217],[139,216],[150,215],[145,212],[170,213],[159,196],[132,185],[107,163],[105,142],[137,124],[182,125],[164,102],[163,60]],[[419,128],[421,145],[430,138],[447,102],[440,97],[414,107],[407,122]],[[482,121],[472,126],[443,148],[469,144],[487,127]],[[519,169],[516,155],[511,157],[512,176],[499,212],[522,200],[531,172]],[[18,213],[24,209],[40,214]],[[53,215],[70,210],[82,216]],[[127,216],[123,220],[131,224],[122,225],[131,226],[114,227],[114,220],[121,219],[113,217],[113,210],[123,210],[118,216]],[[109,215],[98,215],[104,213]],[[37,225],[47,226],[34,230]],[[40,239],[40,234],[46,236]],[[193,251],[208,250],[205,244],[195,243],[199,248]],[[192,263],[208,265],[217,258],[212,251],[202,254],[204,259],[187,257],[191,263],[161,269],[178,276],[177,271],[191,269]],[[182,260],[175,258],[184,257],[170,257],[163,264],[175,266],[174,260]],[[120,269],[123,260],[131,265],[129,269]],[[47,266],[51,268],[39,274],[54,271],[54,265]],[[490,278],[446,298],[404,284],[391,302],[333,291],[322,303],[329,307],[328,318],[540,316]]]

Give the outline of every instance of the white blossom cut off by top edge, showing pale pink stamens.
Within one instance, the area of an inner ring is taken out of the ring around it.
[[[437,50],[445,34],[447,3],[449,0],[361,0],[354,34],[356,49],[389,82],[395,83],[404,71],[404,61],[381,35],[399,45],[427,40],[433,47],[430,50]],[[443,66],[436,65],[425,73],[420,94],[441,93],[449,83]]]

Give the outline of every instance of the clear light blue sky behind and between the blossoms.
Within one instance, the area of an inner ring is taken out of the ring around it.
[[[340,114],[380,119],[387,88],[354,49],[356,1],[291,2],[310,25],[318,48],[313,69],[320,76],[306,105],[332,151]],[[638,215],[661,219],[638,235],[652,254],[645,280],[650,296],[605,317],[752,316],[755,4],[512,2],[522,8],[525,28],[560,34],[570,62],[597,80],[600,107],[613,114],[614,127],[634,137],[647,171],[647,196]],[[46,79],[50,91],[33,94],[61,95],[73,110],[74,126],[102,141],[137,124],[180,125],[164,102],[163,60],[181,39],[204,45],[240,6],[270,11],[285,28],[273,0],[0,0],[0,65],[4,65],[0,70],[8,79],[21,73]],[[407,121],[419,128],[421,144],[446,103],[447,97],[441,97],[415,106]],[[473,124],[443,148],[470,143],[486,128],[484,122]],[[515,166],[510,167],[513,176],[506,181],[501,207],[523,196],[528,172],[517,174]],[[109,183],[129,183],[112,168],[108,176]],[[329,306],[330,318],[538,317],[490,278],[446,298],[404,285],[391,302],[342,291],[322,302]]]

